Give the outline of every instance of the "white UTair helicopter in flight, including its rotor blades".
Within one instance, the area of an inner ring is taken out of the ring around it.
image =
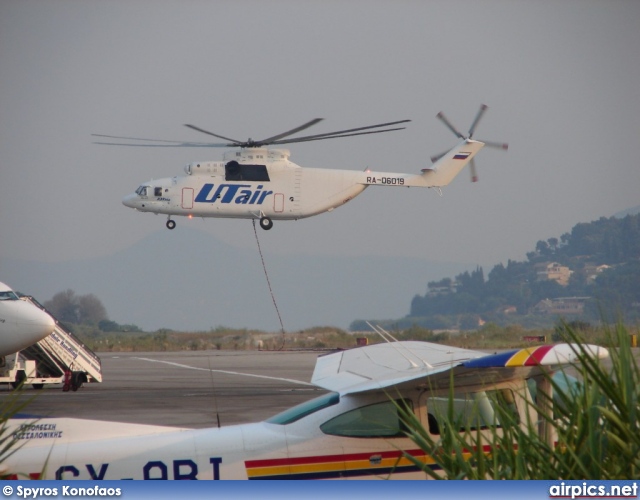
[[[477,181],[474,157],[484,146],[507,149],[508,145],[473,139],[478,122],[487,110],[481,105],[466,135],[456,129],[440,112],[440,119],[458,138],[447,152],[432,157],[432,165],[417,174],[373,172],[324,168],[302,168],[290,161],[288,149],[268,148],[324,139],[403,130],[398,125],[411,120],[357,127],[335,132],[291,137],[322,121],[315,118],[287,132],[266,139],[239,141],[215,134],[195,125],[192,130],[207,134],[224,143],[185,142],[92,134],[95,137],[126,140],[96,144],[148,147],[213,147],[234,148],[224,153],[222,161],[192,162],[184,167],[185,175],[157,179],[141,184],[122,203],[139,212],[167,215],[166,226],[174,229],[172,217],[223,217],[258,219],[260,227],[269,230],[274,220],[297,220],[331,212],[349,202],[369,186],[441,188],[449,184],[470,164],[472,181]]]

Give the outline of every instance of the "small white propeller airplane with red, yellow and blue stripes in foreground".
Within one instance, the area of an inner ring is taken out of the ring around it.
[[[587,349],[596,358],[608,356],[603,348]],[[434,460],[405,436],[396,401],[412,408],[437,441],[452,371],[460,421],[479,427],[491,442],[492,432],[501,432],[496,405],[522,425],[537,422],[527,381],[537,381],[538,394],[551,395],[542,372],[575,360],[569,344],[492,355],[426,342],[370,345],[320,356],[311,382],[329,392],[260,423],[185,429],[73,418],[10,420],[7,432],[19,448],[3,461],[2,474],[64,480],[425,479],[403,451],[433,467]]]

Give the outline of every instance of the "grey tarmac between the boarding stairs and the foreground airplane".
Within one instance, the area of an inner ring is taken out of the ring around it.
[[[27,386],[21,413],[205,428],[259,422],[325,393],[310,384],[316,351],[97,354],[102,383],[77,392]],[[11,393],[0,386],[0,402]]]

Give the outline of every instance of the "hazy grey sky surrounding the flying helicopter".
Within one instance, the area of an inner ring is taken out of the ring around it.
[[[510,150],[479,154],[480,182],[463,172],[443,197],[371,187],[276,221],[263,250],[486,271],[524,260],[539,239],[640,204],[639,26],[637,1],[2,0],[0,271],[3,257],[88,259],[167,231],[122,197],[224,152],[91,133],[206,140],[193,123],[245,139],[315,117],[309,133],[409,118],[401,132],[293,144],[291,160],[418,172],[455,142],[437,112],[466,130],[481,103],[476,138]],[[249,221],[177,222],[176,259],[181,225],[255,246]]]

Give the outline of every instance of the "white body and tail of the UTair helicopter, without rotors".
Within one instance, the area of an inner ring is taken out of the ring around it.
[[[169,229],[175,227],[171,216],[260,219],[262,228],[270,229],[273,220],[330,212],[371,185],[446,185],[483,145],[462,141],[450,151],[444,168],[436,164],[421,174],[302,168],[289,160],[286,149],[230,151],[224,161],[193,162],[184,168],[185,175],[144,183],[122,202],[141,212],[168,215]]]

